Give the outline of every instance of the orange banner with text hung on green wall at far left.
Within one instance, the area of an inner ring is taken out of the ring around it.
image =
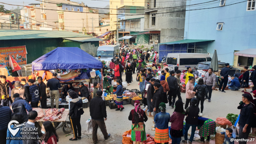
[[[26,46],[16,47],[0,47],[0,63],[9,65],[9,55],[21,66],[27,64],[27,49]]]

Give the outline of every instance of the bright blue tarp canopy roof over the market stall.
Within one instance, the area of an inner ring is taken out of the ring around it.
[[[102,62],[78,47],[58,47],[32,62],[34,70],[101,69]]]

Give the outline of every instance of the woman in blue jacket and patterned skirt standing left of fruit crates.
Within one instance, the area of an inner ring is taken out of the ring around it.
[[[122,111],[124,109],[124,107],[122,105],[123,104],[123,85],[122,85],[121,80],[117,80],[116,83],[117,83],[116,91],[114,93],[111,92],[111,94],[116,94],[116,101],[115,101],[115,103],[117,105],[116,111],[117,110]]]

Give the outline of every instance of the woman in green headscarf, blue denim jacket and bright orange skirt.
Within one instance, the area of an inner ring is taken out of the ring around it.
[[[159,109],[161,112],[156,114],[154,118],[155,122],[155,142],[157,144],[168,144],[169,143],[169,129],[168,123],[170,121],[170,114],[166,112],[166,104],[160,103]]]

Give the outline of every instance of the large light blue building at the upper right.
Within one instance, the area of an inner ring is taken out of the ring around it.
[[[255,0],[206,2],[198,4],[201,2],[187,1],[184,39],[212,40],[207,42],[204,50],[213,56],[217,49],[221,62],[235,66],[239,63],[242,66],[256,64],[256,58],[246,54],[234,56],[237,51],[256,48]]]

